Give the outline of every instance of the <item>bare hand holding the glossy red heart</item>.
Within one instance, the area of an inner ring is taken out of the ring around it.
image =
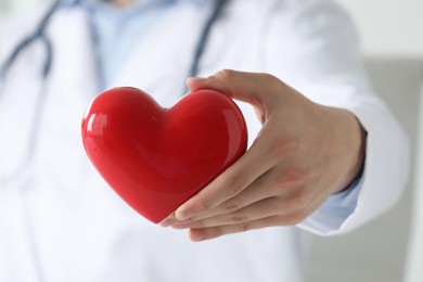
[[[249,150],[165,219],[193,241],[271,226],[296,225],[360,174],[366,133],[341,108],[311,102],[267,74],[221,70],[190,78],[252,104],[262,128]]]

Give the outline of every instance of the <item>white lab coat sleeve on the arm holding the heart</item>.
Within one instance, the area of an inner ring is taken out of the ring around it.
[[[315,102],[350,111],[367,131],[360,181],[298,227],[321,235],[356,229],[393,207],[410,170],[409,141],[372,90],[348,15],[325,0],[274,1],[265,68]],[[400,93],[399,93],[400,94]]]

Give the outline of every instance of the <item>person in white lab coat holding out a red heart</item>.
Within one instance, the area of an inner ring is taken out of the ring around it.
[[[0,42],[0,281],[299,282],[308,232],[350,231],[406,184],[407,138],[330,1],[62,1]],[[170,106],[188,76],[242,101],[252,142],[161,228],[94,171],[79,125],[101,90]]]

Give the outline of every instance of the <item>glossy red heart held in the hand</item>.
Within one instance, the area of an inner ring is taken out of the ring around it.
[[[157,223],[245,152],[247,131],[236,104],[219,92],[192,92],[163,108],[124,87],[90,104],[82,141],[106,182]]]

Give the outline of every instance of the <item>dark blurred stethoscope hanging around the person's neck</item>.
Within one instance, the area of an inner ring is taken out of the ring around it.
[[[49,77],[50,70],[51,70],[51,65],[54,59],[53,54],[53,46],[51,39],[47,35],[47,27],[49,25],[50,20],[54,15],[56,11],[59,11],[61,8],[65,7],[63,3],[66,1],[63,0],[56,0],[51,8],[48,10],[48,12],[44,14],[44,16],[41,18],[39,22],[37,28],[33,34],[24,38],[13,50],[13,52],[9,55],[9,57],[4,61],[3,65],[0,66],[0,86],[2,82],[7,79],[7,76],[9,74],[9,70],[12,68],[13,64],[16,62],[17,57],[20,54],[22,54],[26,49],[28,49],[31,44],[40,41],[44,49],[46,49],[46,60],[43,62],[42,68],[41,68],[41,79],[43,82],[41,82],[41,87],[39,90],[38,94],[38,100],[37,100],[37,105],[36,105],[36,111],[35,111],[35,116],[31,120],[31,132],[29,133],[29,138],[31,142],[28,142],[28,146],[26,149],[26,152],[24,153],[24,158],[22,162],[18,164],[16,169],[12,174],[8,174],[8,176],[1,176],[0,175],[0,187],[3,185],[3,183],[8,182],[10,179],[16,178],[16,176],[20,175],[21,171],[25,171],[25,168],[28,166],[30,163],[34,152],[35,152],[35,146],[37,142],[37,137],[38,137],[38,125],[40,124],[40,116],[42,112],[42,104],[46,100],[46,93],[44,91],[44,85],[46,81]],[[73,5],[78,4],[80,1],[75,0],[73,1]],[[210,35],[210,30],[216,23],[216,21],[219,18],[221,15],[223,8],[226,4],[229,2],[229,0],[215,0],[214,7],[211,9],[211,12],[207,18],[207,21],[204,24],[203,30],[201,33],[201,36],[198,37],[198,40],[196,42],[194,53],[192,56],[192,63],[190,66],[190,69],[188,72],[189,77],[196,76],[198,73],[198,67],[200,67],[200,62],[201,59],[205,52],[207,41]],[[68,3],[66,3],[68,5]],[[187,90],[187,89],[184,89]],[[2,89],[0,89],[0,99],[1,99],[1,93]]]

